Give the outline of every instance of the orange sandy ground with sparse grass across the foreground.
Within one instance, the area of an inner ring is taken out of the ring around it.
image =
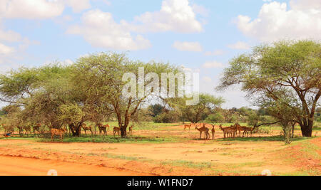
[[[49,169],[56,169],[59,175],[107,176],[259,175],[266,169],[279,175],[302,171],[300,163],[289,162],[287,155],[280,157],[288,149],[283,142],[203,141],[195,139],[199,137],[197,132],[175,129],[139,133],[159,137],[170,134],[190,140],[185,143],[108,144],[0,139],[0,175],[44,175]],[[218,138],[222,135],[217,132]],[[321,154],[320,142],[320,138],[313,140],[319,147],[317,154]],[[300,148],[289,151],[299,152]],[[313,167],[321,163],[310,158],[307,161]]]

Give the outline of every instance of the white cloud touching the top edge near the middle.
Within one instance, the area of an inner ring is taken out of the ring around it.
[[[133,23],[123,21],[123,24],[136,32],[201,32],[203,26],[195,16],[188,0],[164,0],[161,11],[146,12],[136,16]]]

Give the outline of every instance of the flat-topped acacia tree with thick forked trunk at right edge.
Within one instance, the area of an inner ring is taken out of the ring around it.
[[[304,137],[312,136],[315,109],[321,95],[321,44],[319,41],[279,41],[253,48],[230,61],[218,90],[242,85],[255,103],[265,107],[269,98],[291,110]],[[290,97],[290,98],[289,98]],[[289,100],[289,101],[285,101]],[[270,106],[272,104],[268,104]],[[282,110],[272,110],[282,115]]]

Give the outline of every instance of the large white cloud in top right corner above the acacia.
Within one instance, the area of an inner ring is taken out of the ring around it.
[[[258,18],[238,16],[238,28],[246,36],[260,41],[276,41],[280,38],[321,38],[320,0],[276,1],[264,4]]]

